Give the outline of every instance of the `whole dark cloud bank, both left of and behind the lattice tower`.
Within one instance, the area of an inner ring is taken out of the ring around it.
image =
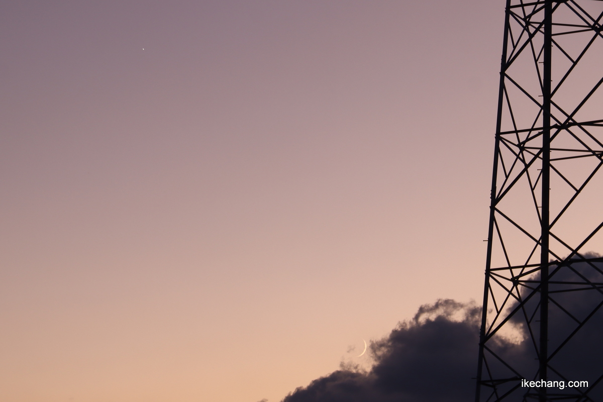
[[[593,254],[594,255],[594,254]],[[592,256],[591,256],[592,257]],[[552,270],[553,271],[553,270]],[[567,341],[551,360],[554,374],[566,380],[587,380],[594,385],[603,374],[603,263],[573,262],[557,269],[555,281],[591,282],[590,290],[552,294],[549,307],[549,345],[555,347],[590,315],[586,325]],[[534,275],[538,279],[538,275]],[[575,285],[582,286],[582,285]],[[584,286],[582,286],[584,287]],[[555,285],[551,285],[554,290]],[[522,291],[527,295],[530,289]],[[576,296],[578,295],[578,296]],[[538,295],[511,318],[515,338],[502,336],[490,344],[491,350],[510,362],[523,375],[535,379],[535,345],[525,324],[526,315],[538,309]],[[517,306],[510,304],[510,310]],[[297,388],[282,402],[467,402],[475,398],[475,377],[481,307],[453,300],[438,300],[422,306],[410,321],[400,323],[380,341],[373,341],[370,371],[342,366],[326,377]],[[512,335],[512,334],[511,334]],[[538,339],[538,333],[534,333]],[[506,369],[492,362],[493,370]],[[558,373],[558,374],[557,374]],[[507,377],[508,378],[508,377]],[[603,385],[599,386],[603,388]],[[526,389],[518,389],[510,400],[521,401]],[[567,391],[567,389],[566,389]],[[590,391],[592,400],[603,400],[598,389]]]

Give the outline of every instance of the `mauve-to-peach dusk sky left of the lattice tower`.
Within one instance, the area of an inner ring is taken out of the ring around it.
[[[0,1],[0,399],[282,400],[480,300],[504,1]]]

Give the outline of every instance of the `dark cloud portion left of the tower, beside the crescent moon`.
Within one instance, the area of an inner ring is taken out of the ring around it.
[[[475,389],[479,312],[453,300],[423,306],[387,338],[371,342],[370,371],[335,371],[283,402],[466,402]]]

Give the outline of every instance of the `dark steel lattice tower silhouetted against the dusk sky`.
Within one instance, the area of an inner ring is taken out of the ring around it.
[[[603,401],[603,2],[505,10],[476,402]]]

